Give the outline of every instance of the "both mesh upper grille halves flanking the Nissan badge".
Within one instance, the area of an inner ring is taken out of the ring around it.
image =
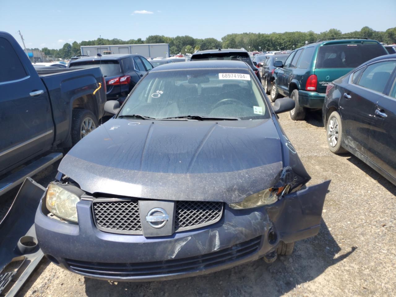
[[[119,234],[143,234],[138,200],[98,199],[92,202],[99,230]],[[221,219],[223,202],[177,201],[175,232],[214,224]]]

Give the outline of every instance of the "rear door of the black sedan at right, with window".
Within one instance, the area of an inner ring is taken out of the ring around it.
[[[343,124],[343,139],[347,145],[367,155],[371,122],[375,105],[383,97],[385,85],[383,70],[388,62],[376,62],[356,70],[350,84],[341,91],[339,108]],[[389,74],[390,75],[390,74]]]

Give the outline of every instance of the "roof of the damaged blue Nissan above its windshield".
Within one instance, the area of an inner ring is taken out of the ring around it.
[[[155,67],[150,72],[156,72],[160,70],[183,70],[183,69],[247,69],[250,67],[242,61],[224,61],[224,60],[213,60],[213,61],[188,61],[180,63],[168,63]]]

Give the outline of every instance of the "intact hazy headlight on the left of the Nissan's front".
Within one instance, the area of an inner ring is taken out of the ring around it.
[[[80,198],[63,187],[50,183],[47,191],[47,209],[63,219],[78,222],[76,204]]]

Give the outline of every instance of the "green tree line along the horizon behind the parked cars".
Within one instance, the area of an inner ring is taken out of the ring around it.
[[[193,38],[191,36],[169,37],[164,35],[150,35],[145,40],[118,38],[106,39],[97,38],[82,42],[74,41],[72,44],[65,43],[60,49],[42,48],[44,55],[53,55],[55,58],[69,59],[81,53],[80,46],[105,46],[110,44],[143,44],[143,43],[168,43],[171,54],[193,53],[196,50],[216,49],[216,48],[244,48],[247,51],[261,50],[286,50],[303,46],[306,41],[312,42],[321,38],[333,37],[367,37],[378,40],[385,44],[396,44],[396,27],[385,31],[375,31],[369,27],[363,27],[360,31],[342,33],[338,29],[330,29],[324,32],[284,32],[284,33],[238,33],[227,34],[221,40],[215,38]],[[39,50],[38,48],[34,48]]]

